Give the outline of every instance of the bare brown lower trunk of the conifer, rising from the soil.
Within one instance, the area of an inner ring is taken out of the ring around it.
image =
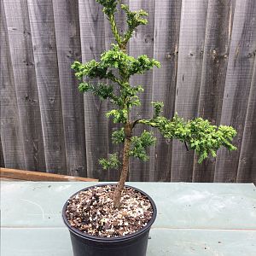
[[[124,146],[124,155],[123,155],[123,169],[121,172],[121,176],[119,179],[119,183],[117,184],[117,188],[114,191],[113,197],[113,207],[120,207],[120,199],[122,195],[122,191],[125,187],[125,180],[128,176],[129,172],[129,151],[131,148],[131,127],[129,127],[128,136],[125,137],[125,146]]]

